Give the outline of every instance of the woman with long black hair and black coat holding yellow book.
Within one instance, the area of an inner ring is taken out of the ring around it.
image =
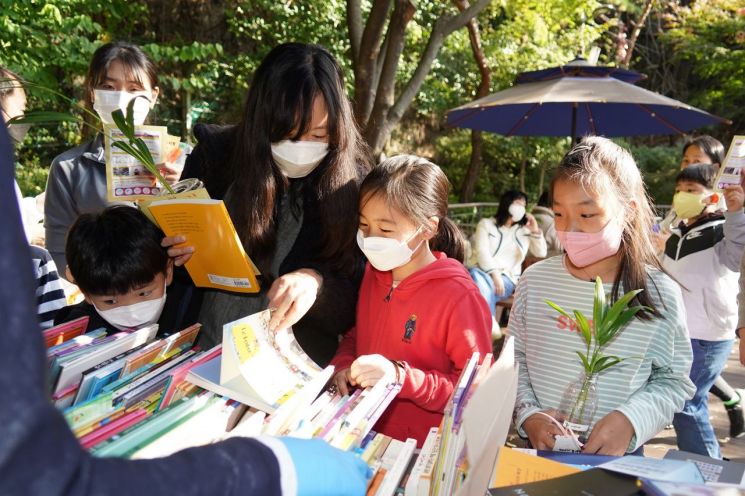
[[[254,75],[241,122],[197,125],[194,135],[182,179],[198,177],[225,199],[262,273],[258,294],[205,293],[202,344],[268,307],[272,327],[293,326],[305,351],[328,363],[354,323],[363,267],[354,244],[358,187],[371,165],[339,64],[317,45],[279,45]],[[191,248],[179,242],[164,241],[183,263]]]

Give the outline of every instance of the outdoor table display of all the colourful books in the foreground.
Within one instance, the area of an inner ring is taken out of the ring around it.
[[[368,495],[745,494],[745,466],[670,451],[664,460],[504,447],[517,389],[511,340],[474,354],[443,420],[417,450],[373,428],[395,382],[341,395],[290,330],[264,311],[226,324],[223,344],[194,347],[200,326],[106,336],[79,319],[44,332],[50,391],[95,456],[154,458],[236,436],[321,438],[372,469]],[[267,373],[271,370],[271,373]],[[251,408],[248,408],[248,407]],[[641,491],[641,493],[640,493]]]

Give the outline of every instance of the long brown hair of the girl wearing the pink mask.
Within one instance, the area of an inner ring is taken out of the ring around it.
[[[583,138],[562,159],[551,181],[551,196],[558,181],[570,181],[586,191],[609,195],[623,209],[623,235],[621,238],[621,264],[613,281],[611,300],[616,301],[623,290],[642,289],[634,302],[653,310],[637,315],[648,320],[661,316],[659,305],[664,306],[659,289],[648,277],[647,269],[653,267],[665,272],[657,258],[652,243],[651,202],[642,175],[631,154],[606,138]],[[632,206],[635,205],[635,206]],[[657,298],[649,291],[647,281],[655,285]]]

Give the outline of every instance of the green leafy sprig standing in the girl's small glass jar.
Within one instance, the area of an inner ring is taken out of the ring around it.
[[[595,279],[595,297],[592,306],[592,323],[587,320],[585,315],[574,310],[569,314],[566,310],[549,300],[544,300],[551,308],[561,315],[573,320],[582,334],[585,341],[585,352],[577,351],[577,355],[582,362],[585,375],[591,377],[600,372],[609,369],[619,363],[627,360],[615,355],[605,355],[605,348],[618,333],[634,318],[641,310],[648,310],[642,305],[629,306],[631,300],[642,290],[635,289],[624,294],[613,305],[605,301],[605,291],[603,290],[603,281],[598,277]]]

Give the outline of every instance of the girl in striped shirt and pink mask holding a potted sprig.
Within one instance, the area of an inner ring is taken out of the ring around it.
[[[615,301],[643,291],[637,316],[605,348],[628,358],[603,371],[585,453],[634,452],[683,408],[695,390],[680,289],[660,267],[651,241],[652,210],[634,159],[605,138],[585,138],[562,160],[551,184],[556,230],[565,254],[530,267],[515,292],[508,333],[520,363],[515,424],[537,449],[553,449],[567,386],[582,374],[576,324],[549,308],[592,315],[594,281]]]

